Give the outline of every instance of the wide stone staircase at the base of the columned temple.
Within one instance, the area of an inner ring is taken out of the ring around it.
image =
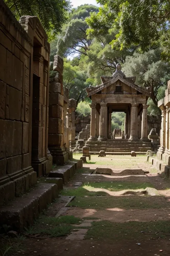
[[[100,150],[104,150],[106,154],[131,154],[135,151],[137,154],[146,154],[148,150],[152,150],[150,141],[128,141],[128,139],[108,139],[107,141],[86,141],[85,146],[90,147],[90,154],[99,154]]]

